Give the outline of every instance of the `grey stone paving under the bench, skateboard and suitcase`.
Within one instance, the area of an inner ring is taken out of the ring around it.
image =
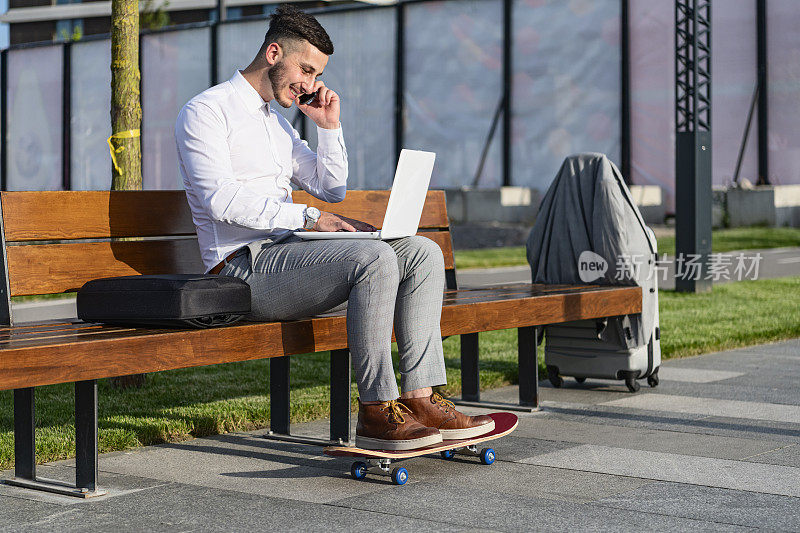
[[[542,382],[498,461],[349,461],[263,431],[100,457],[108,496],[0,485],[0,531],[800,531],[800,339],[667,361],[661,384]],[[513,401],[513,387],[485,399]],[[322,435],[324,421],[298,433]],[[70,461],[40,475],[71,479]],[[2,472],[8,478],[11,472]]]

